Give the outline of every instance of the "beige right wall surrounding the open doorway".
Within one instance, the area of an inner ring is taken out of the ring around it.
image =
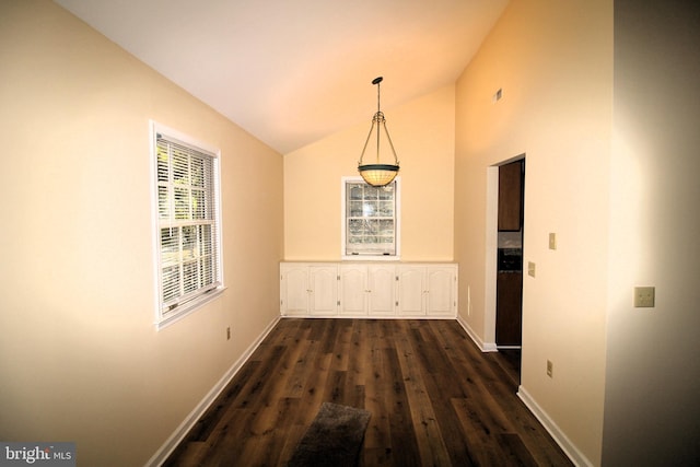
[[[521,394],[568,439],[570,454],[594,464],[605,387],[611,82],[611,1],[518,0],[456,91],[460,319],[493,345],[493,166],[525,154],[524,261],[537,275],[524,279]]]

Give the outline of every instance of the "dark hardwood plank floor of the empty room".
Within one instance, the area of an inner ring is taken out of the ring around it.
[[[284,465],[324,401],[372,413],[363,466],[572,465],[518,367],[455,320],[284,318],[164,465]]]

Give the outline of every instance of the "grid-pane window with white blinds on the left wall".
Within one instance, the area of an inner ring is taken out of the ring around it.
[[[155,132],[159,322],[221,288],[218,157]]]

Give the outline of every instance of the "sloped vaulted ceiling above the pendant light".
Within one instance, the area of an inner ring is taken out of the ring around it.
[[[280,153],[454,83],[509,0],[55,0]],[[388,118],[388,113],[387,113]]]

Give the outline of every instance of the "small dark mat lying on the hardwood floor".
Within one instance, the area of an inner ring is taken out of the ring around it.
[[[366,410],[324,402],[288,466],[357,466],[370,416]]]

